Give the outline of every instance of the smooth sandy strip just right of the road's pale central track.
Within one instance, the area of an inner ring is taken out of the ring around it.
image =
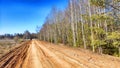
[[[49,60],[52,61],[53,68],[71,68],[70,64],[68,64],[64,60],[60,59],[53,52],[51,52],[49,49],[47,49],[44,45],[39,44],[38,41],[35,41],[35,43],[36,43],[36,45],[38,45],[40,47],[40,49],[44,53],[44,55],[46,55],[46,57],[48,57]]]

